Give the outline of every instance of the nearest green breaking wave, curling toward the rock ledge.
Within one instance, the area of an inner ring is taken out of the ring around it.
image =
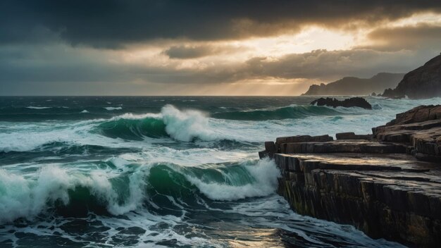
[[[107,161],[121,173],[89,173],[44,166],[27,178],[0,170],[0,223],[41,214],[85,216],[89,211],[120,215],[147,208],[174,209],[212,201],[263,197],[275,192],[280,175],[273,161],[185,167],[175,164],[130,164]]]

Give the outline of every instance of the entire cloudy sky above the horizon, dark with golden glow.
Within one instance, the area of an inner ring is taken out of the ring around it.
[[[441,1],[0,1],[0,95],[299,95],[441,52]]]

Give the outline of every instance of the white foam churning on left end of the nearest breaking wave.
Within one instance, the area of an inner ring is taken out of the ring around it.
[[[133,211],[142,206],[144,178],[148,172],[147,168],[142,168],[130,173],[129,194],[121,203],[109,181],[116,176],[113,173],[90,171],[84,175],[54,165],[42,167],[31,177],[0,170],[0,223],[20,217],[32,219],[46,211],[47,204],[57,200],[66,205],[69,203],[68,190],[79,186],[87,187],[94,197],[107,204],[107,210],[114,215]]]

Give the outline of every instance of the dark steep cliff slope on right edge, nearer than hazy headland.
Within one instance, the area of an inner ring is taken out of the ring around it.
[[[404,96],[411,99],[441,97],[441,55],[407,73],[395,89],[386,89],[383,93],[383,97]]]

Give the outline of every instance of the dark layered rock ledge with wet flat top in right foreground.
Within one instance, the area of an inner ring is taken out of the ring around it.
[[[372,135],[279,137],[261,158],[300,214],[354,225],[411,247],[441,244],[441,106],[419,106]]]

